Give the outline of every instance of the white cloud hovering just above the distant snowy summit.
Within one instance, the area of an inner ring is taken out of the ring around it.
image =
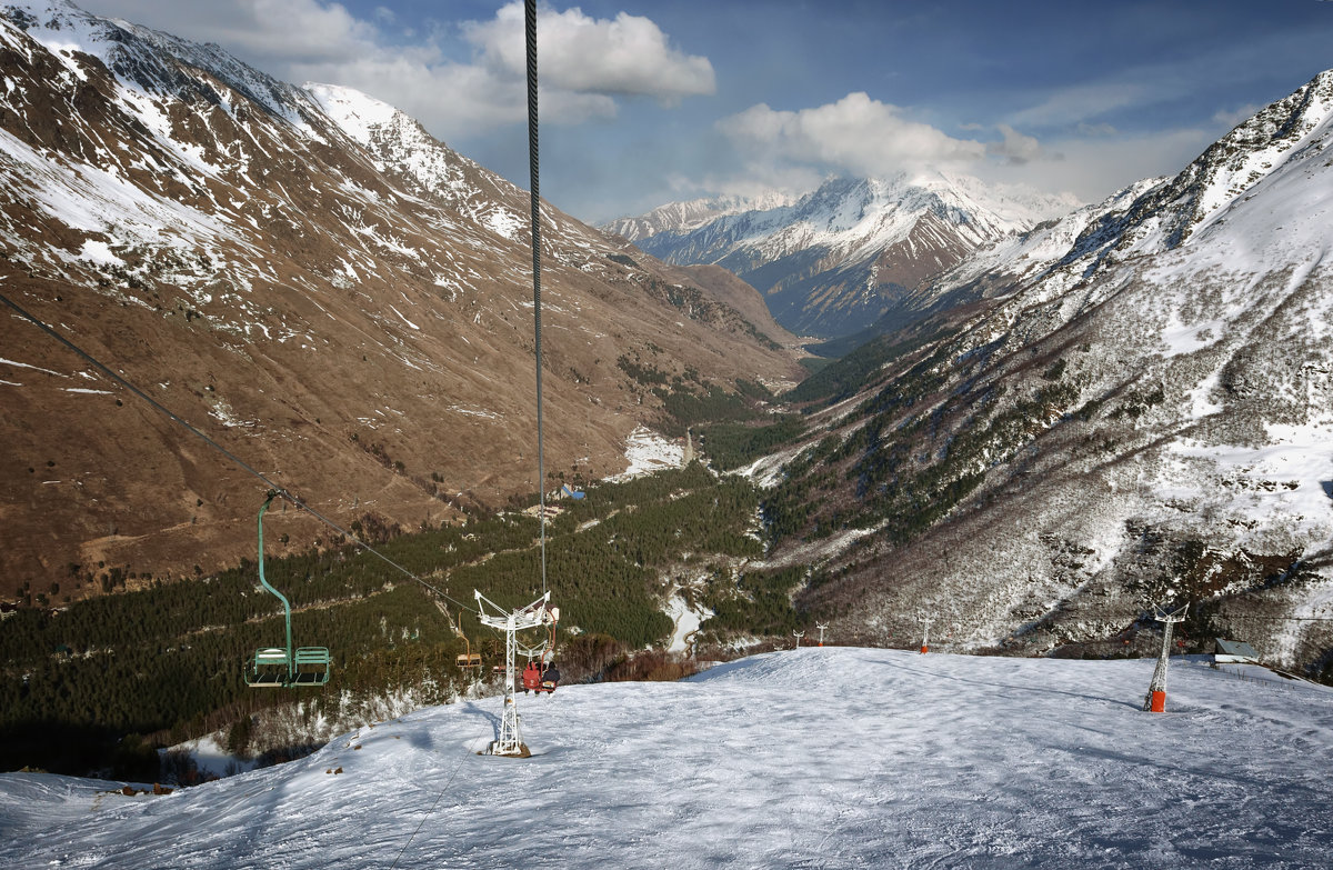
[[[750,156],[752,164],[814,164],[889,176],[925,167],[969,165],[986,155],[982,143],[954,139],[929,124],[906,120],[897,107],[861,92],[798,112],[776,111],[761,103],[717,125]]]

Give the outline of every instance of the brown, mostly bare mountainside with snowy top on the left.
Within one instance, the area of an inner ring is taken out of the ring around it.
[[[0,11],[0,292],[344,524],[536,488],[525,192],[364,95],[65,3]],[[623,355],[800,378],[753,291],[543,220],[548,471],[624,468],[660,403]],[[252,555],[263,484],[8,310],[0,402],[0,594]]]

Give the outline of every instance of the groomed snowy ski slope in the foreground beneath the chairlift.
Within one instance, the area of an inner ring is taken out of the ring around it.
[[[1152,670],[804,647],[520,697],[525,761],[487,698],[165,797],[0,774],[0,866],[1333,863],[1333,690]]]

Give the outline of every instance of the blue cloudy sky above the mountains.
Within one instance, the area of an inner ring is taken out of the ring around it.
[[[523,4],[75,0],[357,88],[528,185]],[[940,167],[1093,201],[1333,68],[1333,0],[564,0],[541,192],[603,222]]]

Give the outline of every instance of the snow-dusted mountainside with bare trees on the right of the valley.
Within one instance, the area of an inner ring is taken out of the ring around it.
[[[1325,670],[1330,145],[1326,72],[1177,176],[932,286],[922,304],[997,295],[821,412],[778,491],[797,499],[830,466],[846,480],[816,522],[838,552],[818,560],[849,571],[806,603],[856,602],[873,615],[849,624],[876,636],[945,608],[977,648],[1046,651],[1118,643],[1153,604],[1188,600],[1196,638]],[[817,444],[829,430],[845,447]],[[922,510],[941,522],[912,527]]]

